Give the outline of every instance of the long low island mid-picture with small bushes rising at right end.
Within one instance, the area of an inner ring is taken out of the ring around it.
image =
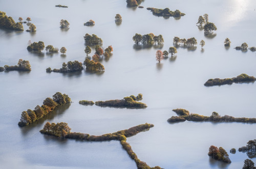
[[[137,99],[138,98],[138,99]],[[136,100],[133,99],[133,96],[124,97],[119,100],[106,100],[106,101],[96,101],[95,104],[99,106],[108,106],[108,107],[126,107],[126,108],[146,108],[147,105],[137,100],[142,99],[142,94],[139,94],[136,97]]]

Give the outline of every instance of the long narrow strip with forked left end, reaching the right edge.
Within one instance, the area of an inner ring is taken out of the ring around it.
[[[244,122],[244,123],[256,123],[256,118],[246,117],[232,117],[232,116],[220,116],[217,112],[212,112],[211,116],[203,116],[199,114],[189,113],[185,109],[174,109],[174,112],[178,116],[172,116],[167,121],[169,123],[181,122],[181,121],[211,121],[211,122]]]

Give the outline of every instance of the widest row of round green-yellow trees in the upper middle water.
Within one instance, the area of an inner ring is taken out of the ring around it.
[[[141,43],[142,45],[152,45],[153,43],[158,44],[163,44],[164,43],[164,39],[162,35],[154,35],[153,33],[149,33],[149,34],[145,34],[145,35],[141,35],[136,33],[133,36],[133,41],[135,44],[139,44]]]

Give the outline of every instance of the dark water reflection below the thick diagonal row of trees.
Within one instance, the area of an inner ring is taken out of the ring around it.
[[[61,115],[67,110],[69,109],[71,103],[62,105],[61,107],[56,108],[55,110],[53,110],[51,113],[45,115],[44,117],[36,120],[35,122],[32,122],[31,124],[24,126],[23,128],[20,128],[20,130],[22,131],[22,134],[24,136],[26,136],[28,134],[29,131],[31,131],[35,126],[37,125],[42,125],[44,124],[44,122],[46,120],[51,120],[53,119],[56,115],[61,117]]]

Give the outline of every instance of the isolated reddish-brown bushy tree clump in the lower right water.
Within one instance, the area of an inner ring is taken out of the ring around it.
[[[222,147],[219,147],[218,149],[217,146],[211,145],[209,147],[208,156],[222,162],[231,163],[231,160],[229,159],[229,155],[227,154],[225,149],[223,149]]]

